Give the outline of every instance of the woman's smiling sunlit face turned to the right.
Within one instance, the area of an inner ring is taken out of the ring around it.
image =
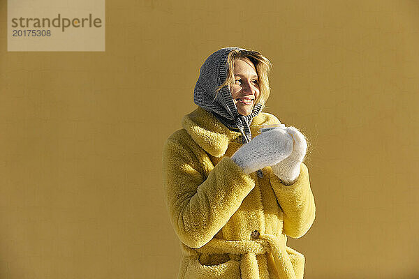
[[[237,112],[242,115],[249,115],[260,95],[258,73],[256,73],[253,63],[247,58],[234,61],[233,73],[234,84],[231,95],[237,107]]]

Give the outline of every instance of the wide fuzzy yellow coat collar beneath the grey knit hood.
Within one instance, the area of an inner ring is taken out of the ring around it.
[[[250,126],[252,137],[257,135],[258,126],[279,123],[279,120],[272,116],[272,114],[260,113],[253,118]],[[182,126],[194,142],[214,157],[223,156],[228,144],[241,136],[240,132],[229,130],[211,112],[207,112],[202,107],[186,114],[182,120]]]

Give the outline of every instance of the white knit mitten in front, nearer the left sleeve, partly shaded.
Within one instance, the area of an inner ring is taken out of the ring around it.
[[[231,156],[246,174],[277,164],[293,151],[293,137],[284,129],[273,129],[257,135]]]

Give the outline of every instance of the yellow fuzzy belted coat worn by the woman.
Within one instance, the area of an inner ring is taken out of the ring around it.
[[[280,123],[272,114],[253,118]],[[179,237],[178,279],[303,278],[304,255],[286,246],[300,238],[315,218],[314,197],[304,163],[300,176],[285,186],[271,167],[244,174],[230,157],[242,135],[198,107],[163,149],[163,184],[170,222]]]

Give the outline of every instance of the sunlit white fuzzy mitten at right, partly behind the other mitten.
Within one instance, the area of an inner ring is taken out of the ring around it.
[[[272,165],[272,172],[282,180],[285,185],[295,183],[300,175],[300,165],[307,152],[307,141],[304,135],[295,127],[287,127],[285,130],[293,136],[294,147],[290,156],[281,162]]]

